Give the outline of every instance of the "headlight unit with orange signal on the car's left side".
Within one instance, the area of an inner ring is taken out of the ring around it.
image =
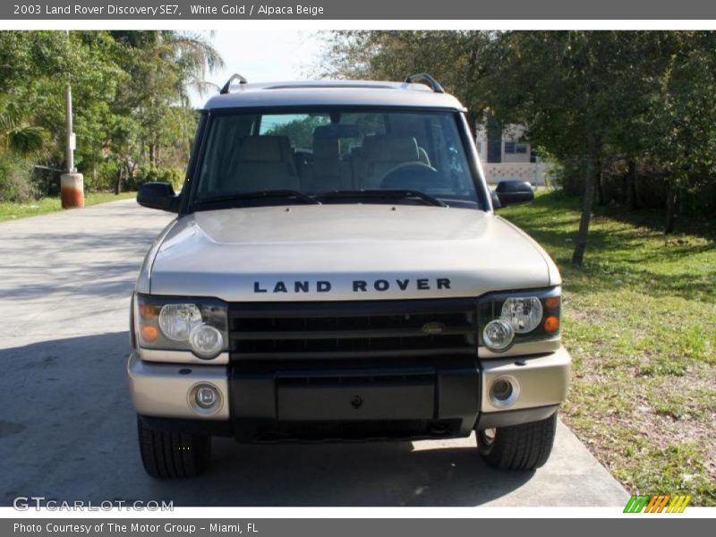
[[[147,349],[191,351],[211,360],[227,350],[226,303],[137,294],[135,327]]]

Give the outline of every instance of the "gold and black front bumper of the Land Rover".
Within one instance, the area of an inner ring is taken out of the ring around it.
[[[434,430],[442,436],[446,430],[447,436],[466,436],[473,428],[547,418],[567,396],[570,365],[567,350],[559,348],[549,354],[475,361],[460,369],[258,375],[234,371],[231,365],[143,362],[132,353],[127,370],[137,413],[158,427],[209,434],[228,430],[250,439],[259,426],[277,423],[299,429],[306,423],[364,423],[370,432],[371,424],[410,421],[427,431],[413,435],[417,438],[439,436],[430,433]],[[511,405],[493,405],[490,386],[506,377],[518,384],[519,395]],[[199,383],[210,383],[220,393],[216,413],[202,415],[192,408],[188,394]]]

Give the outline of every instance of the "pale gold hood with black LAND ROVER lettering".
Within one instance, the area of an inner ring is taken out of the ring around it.
[[[299,205],[200,211],[156,249],[152,294],[228,302],[448,298],[554,286],[557,268],[473,209]]]

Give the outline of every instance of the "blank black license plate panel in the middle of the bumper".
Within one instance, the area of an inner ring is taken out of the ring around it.
[[[430,420],[434,414],[433,370],[277,375],[279,421]]]

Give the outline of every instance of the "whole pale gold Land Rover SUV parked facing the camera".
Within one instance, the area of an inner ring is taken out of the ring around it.
[[[552,447],[560,277],[500,217],[465,108],[429,75],[247,84],[201,113],[178,213],[132,298],[128,373],[156,477],[241,441],[444,439],[499,468]]]

